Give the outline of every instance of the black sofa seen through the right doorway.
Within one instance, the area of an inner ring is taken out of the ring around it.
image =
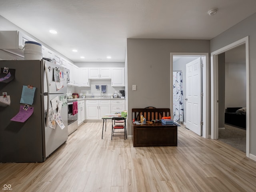
[[[226,108],[225,124],[246,129],[246,108],[242,108],[242,107]]]

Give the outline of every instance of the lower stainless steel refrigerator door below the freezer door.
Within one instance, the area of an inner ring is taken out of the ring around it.
[[[44,128],[44,143],[45,143],[45,155],[46,158],[52,154],[58,147],[60,147],[68,139],[68,106],[64,103],[61,106],[60,116],[64,123],[64,128],[61,129],[56,122],[55,128],[50,127],[50,114],[53,110],[57,114],[58,108],[54,108],[53,102],[56,100],[62,100],[63,97],[67,98],[66,94],[48,94],[44,95],[44,114],[45,116],[45,128]],[[47,110],[48,109],[48,110]]]

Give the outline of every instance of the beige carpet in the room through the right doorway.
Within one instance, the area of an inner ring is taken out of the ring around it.
[[[246,130],[225,124],[225,129],[219,130],[219,140],[246,152]]]

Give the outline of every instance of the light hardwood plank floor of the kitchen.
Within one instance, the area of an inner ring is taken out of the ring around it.
[[[178,127],[177,147],[111,140],[111,124],[85,123],[43,163],[0,164],[12,192],[253,192],[256,162],[240,150]],[[2,190],[3,190],[2,189]],[[4,191],[4,190],[3,190]]]

